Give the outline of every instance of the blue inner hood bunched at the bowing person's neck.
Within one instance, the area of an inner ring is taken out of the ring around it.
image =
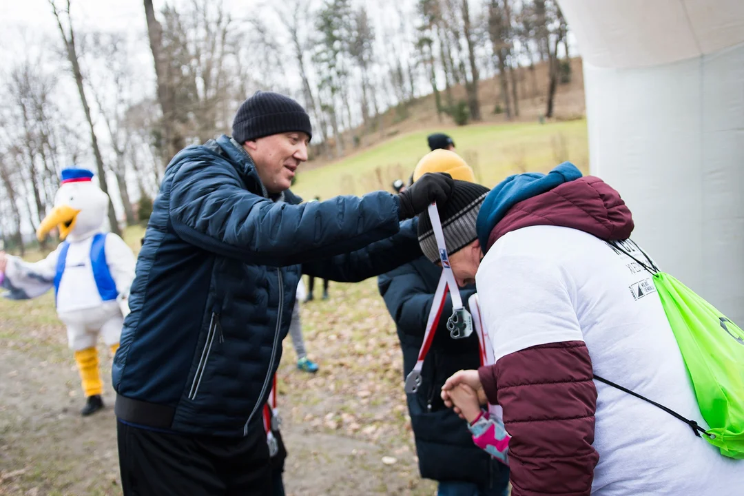
[[[525,173],[510,175],[488,193],[478,213],[476,229],[478,240],[485,252],[488,237],[507,211],[526,199],[552,190],[568,181],[581,177],[581,171],[571,162],[563,162],[548,174]]]

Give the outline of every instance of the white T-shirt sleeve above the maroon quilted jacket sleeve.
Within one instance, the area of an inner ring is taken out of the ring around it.
[[[571,280],[552,260],[485,257],[475,277],[494,359],[539,344],[584,341]]]

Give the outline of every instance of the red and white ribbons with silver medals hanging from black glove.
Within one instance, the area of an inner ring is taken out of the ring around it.
[[[439,260],[442,263],[442,275],[439,278],[437,291],[434,292],[432,309],[429,310],[429,319],[426,321],[426,332],[423,335],[423,343],[419,350],[418,359],[413,370],[405,378],[406,393],[415,393],[421,385],[423,361],[429,352],[429,348],[432,347],[434,333],[437,332],[437,325],[444,309],[444,302],[448,291],[452,297],[452,315],[447,319],[447,329],[449,329],[450,337],[452,339],[461,339],[467,338],[472,334],[472,317],[463,306],[462,298],[460,297],[460,288],[455,280],[455,274],[452,274],[452,267],[449,265],[444,233],[442,232],[442,222],[439,219],[439,210],[437,210],[436,203],[429,205],[429,219],[432,221],[434,239],[437,240]]]

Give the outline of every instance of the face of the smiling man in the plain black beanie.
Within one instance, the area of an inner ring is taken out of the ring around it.
[[[304,132],[283,132],[246,141],[243,146],[256,164],[258,177],[269,193],[289,190],[300,164],[307,161],[310,136]]]

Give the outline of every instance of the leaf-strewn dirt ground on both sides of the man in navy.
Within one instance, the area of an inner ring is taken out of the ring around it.
[[[296,370],[284,342],[287,494],[433,495],[417,471],[400,349],[375,282],[332,283],[331,296],[302,311],[318,374]],[[0,301],[0,495],[121,494],[109,355],[100,348],[106,410],[83,418],[65,341],[49,295]]]

